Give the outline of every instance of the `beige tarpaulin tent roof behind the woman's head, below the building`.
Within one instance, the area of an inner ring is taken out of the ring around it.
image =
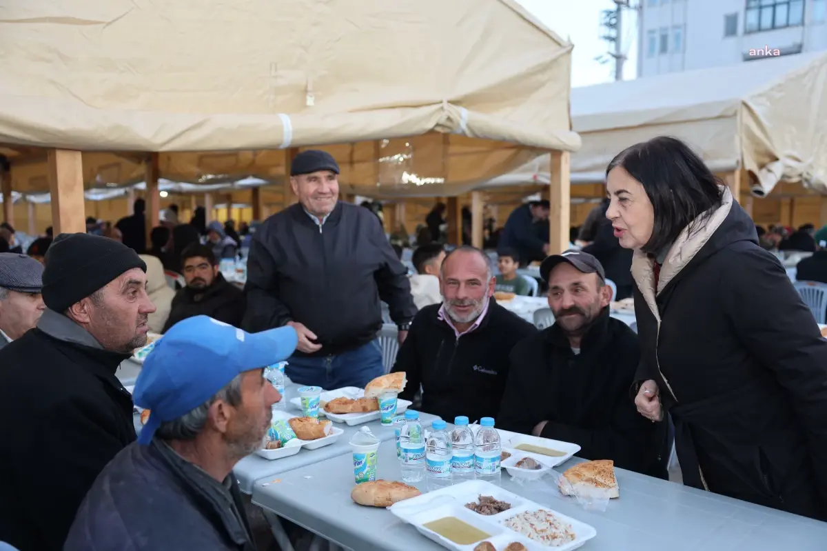
[[[583,140],[571,156],[571,182],[605,180],[612,157],[638,141],[674,136],[712,170],[743,166],[753,193],[779,180],[827,193],[827,54],[786,55],[571,91],[573,127]],[[548,182],[538,157],[484,187]]]

